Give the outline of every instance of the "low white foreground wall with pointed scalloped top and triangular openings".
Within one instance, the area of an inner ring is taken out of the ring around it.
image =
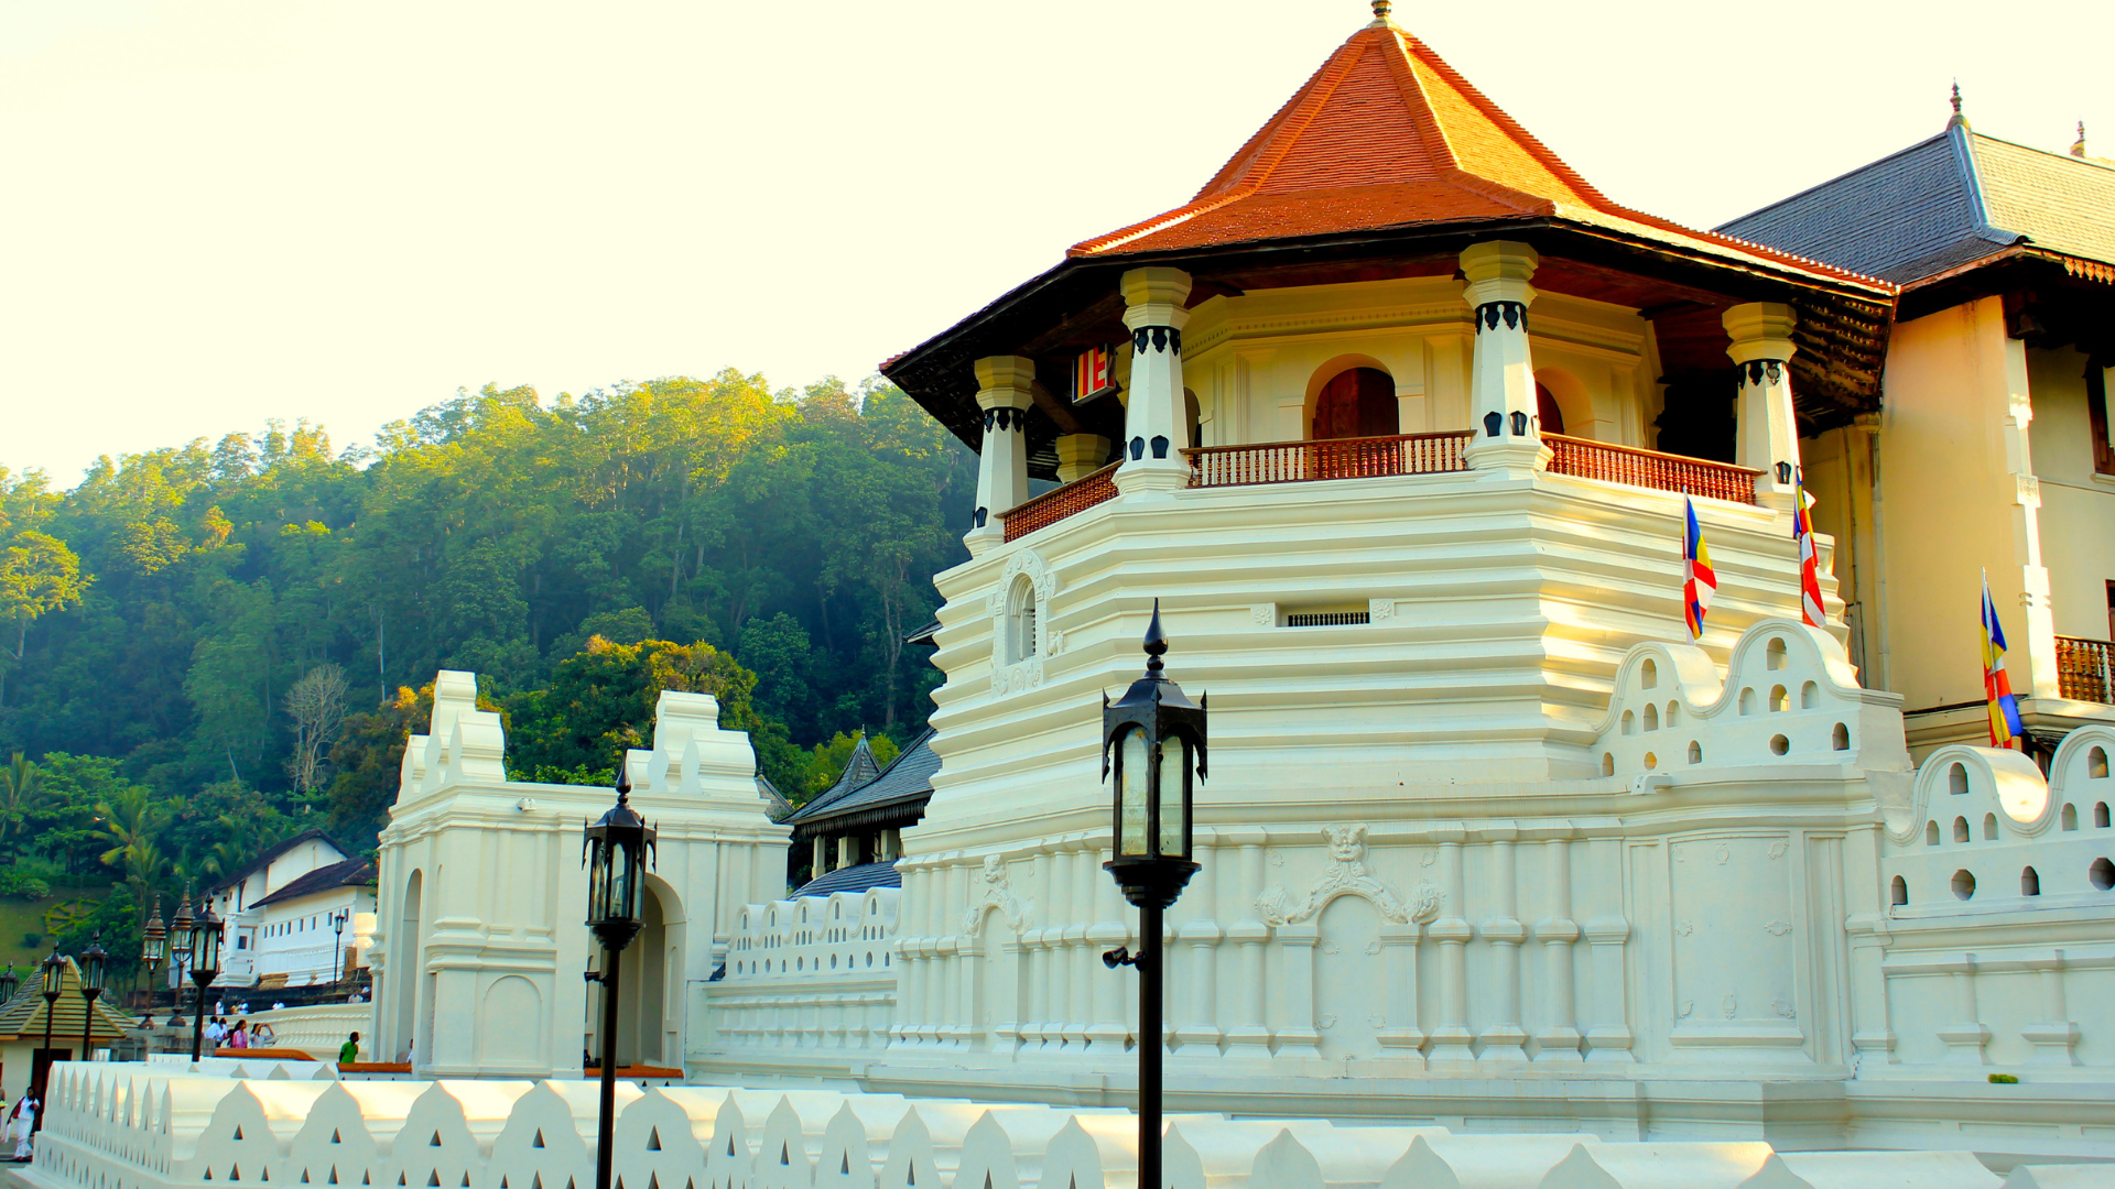
[[[25,1178],[38,1189],[594,1183],[590,1081],[237,1081],[61,1064]],[[618,1087],[613,1176],[738,1189],[1138,1189],[1138,1123],[1106,1109],[897,1094]],[[1772,1153],[1766,1142],[1332,1128],[1178,1115],[1163,1189],[1999,1189],[1969,1151]],[[2022,1164],[2003,1185],[2115,1187],[2109,1166]]]

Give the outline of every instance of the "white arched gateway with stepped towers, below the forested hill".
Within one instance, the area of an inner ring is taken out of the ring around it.
[[[582,827],[611,789],[505,779],[499,715],[442,673],[429,734],[404,751],[381,836],[372,1054],[423,1077],[577,1073],[599,961],[582,925]],[[749,736],[706,694],[664,692],[654,747],[630,751],[632,806],[660,831],[651,910],[624,952],[618,1060],[681,1066],[736,914],[785,893],[789,829],[766,815]],[[594,1013],[599,1020],[599,1011]]]

